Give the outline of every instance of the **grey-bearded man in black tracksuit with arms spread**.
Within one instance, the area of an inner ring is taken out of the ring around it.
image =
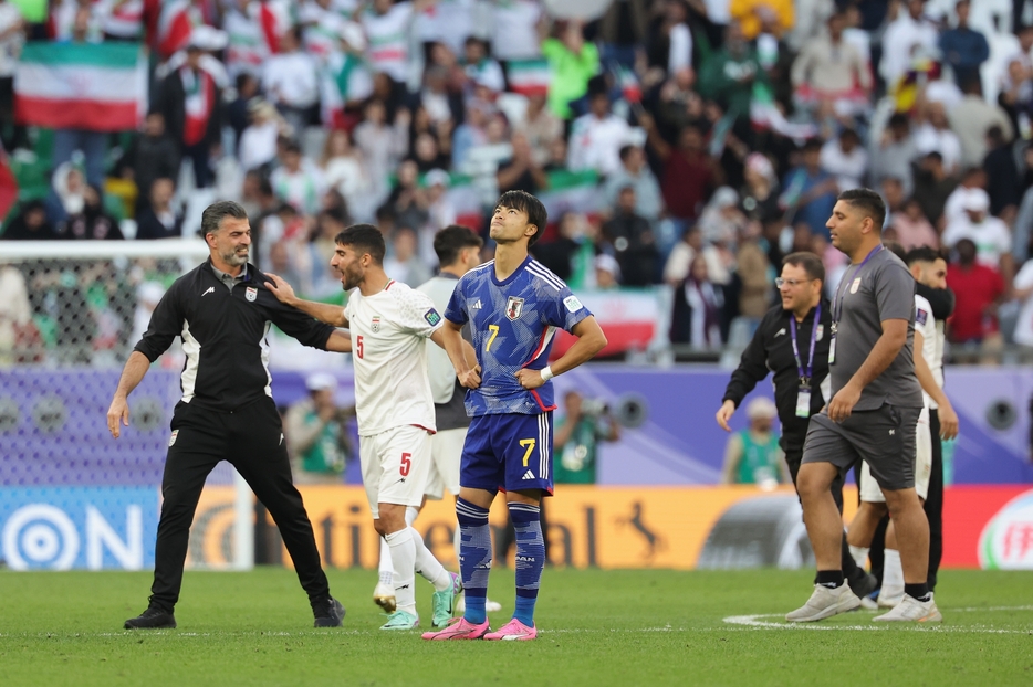
[[[209,260],[176,279],[158,303],[146,334],[129,356],[107,411],[107,427],[129,425],[129,393],[177,336],[187,361],[176,404],[155,546],[150,604],[126,630],[175,627],[190,525],[205,479],[229,461],[280,528],[298,579],[309,594],[316,627],[336,627],[344,607],[330,595],[312,524],[291,480],[280,414],[267,367],[270,323],[313,348],[349,352],[351,339],[282,305],[265,277],[248,263],[251,226],[239,204],[220,201],[201,215]]]

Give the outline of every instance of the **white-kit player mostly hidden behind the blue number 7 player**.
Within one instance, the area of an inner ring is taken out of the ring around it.
[[[434,237],[434,251],[438,255],[438,275],[420,284],[420,290],[434,302],[435,308],[444,313],[456,290],[456,284],[467,272],[481,263],[481,246],[484,242],[466,226],[452,224],[446,226]],[[466,329],[463,330],[466,334]],[[469,339],[469,337],[465,337]],[[471,360],[472,360],[471,356]],[[432,341],[427,342],[427,360],[430,371],[430,390],[434,393],[434,413],[437,434],[430,440],[430,471],[424,489],[424,503],[427,499],[440,500],[445,492],[459,496],[459,457],[462,455],[462,442],[467,437],[470,418],[463,405],[466,389],[456,378],[448,355]],[[411,506],[405,510],[406,522],[413,525],[419,515]],[[459,560],[459,527],[456,527],[456,560]],[[387,611],[395,610],[394,564],[390,547],[380,539],[379,581],[373,591],[374,602]],[[462,612],[462,598],[456,602],[456,612]],[[502,606],[488,600],[488,611],[501,611]]]

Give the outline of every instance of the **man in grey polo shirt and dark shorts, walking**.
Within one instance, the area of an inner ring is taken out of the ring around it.
[[[860,605],[843,581],[843,521],[829,486],[857,461],[878,482],[900,545],[905,598],[877,621],[942,620],[926,584],[929,522],[915,493],[915,430],[921,387],[915,376],[915,279],[883,249],[886,205],[868,189],[839,194],[826,226],[851,258],[832,307],[832,401],[811,419],[796,487],[817,562],[814,593],[791,622],[818,621]]]

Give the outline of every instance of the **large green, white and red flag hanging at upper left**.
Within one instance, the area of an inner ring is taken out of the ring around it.
[[[32,42],[14,73],[14,116],[46,128],[135,129],[147,104],[147,63],[135,43]]]

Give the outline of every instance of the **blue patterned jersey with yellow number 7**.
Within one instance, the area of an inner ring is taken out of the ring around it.
[[[570,331],[592,315],[563,279],[528,257],[504,282],[494,261],[468,272],[456,286],[445,317],[470,323],[481,385],[467,391],[467,414],[538,414],[555,409],[552,382],[528,391],[516,381],[521,368],[549,363],[557,327]]]

